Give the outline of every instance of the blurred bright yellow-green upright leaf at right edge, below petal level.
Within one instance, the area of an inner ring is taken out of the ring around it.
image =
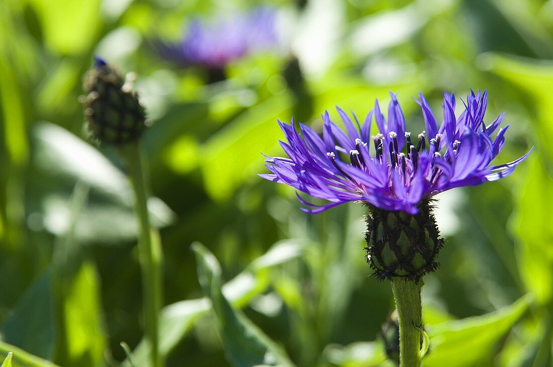
[[[553,208],[553,180],[537,156],[530,157],[524,169],[524,182],[515,192],[512,228],[520,242],[520,276],[536,300],[545,303],[553,296],[553,226],[546,215]]]

